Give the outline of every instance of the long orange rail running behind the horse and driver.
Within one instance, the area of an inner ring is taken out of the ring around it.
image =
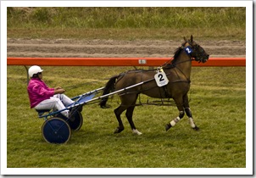
[[[49,66],[160,66],[171,58],[7,58],[8,65]],[[192,66],[246,66],[246,58],[209,58]]]

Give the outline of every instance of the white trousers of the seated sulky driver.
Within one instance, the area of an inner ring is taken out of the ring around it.
[[[46,99],[42,101],[41,103],[36,105],[37,110],[42,109],[53,109],[54,111],[62,110],[66,108],[66,106],[70,105],[71,103],[74,103],[70,97],[67,97],[64,94],[56,94],[53,95],[53,97],[50,97],[50,99]],[[61,112],[61,114],[64,114],[64,116],[69,117],[69,109],[66,109]]]

